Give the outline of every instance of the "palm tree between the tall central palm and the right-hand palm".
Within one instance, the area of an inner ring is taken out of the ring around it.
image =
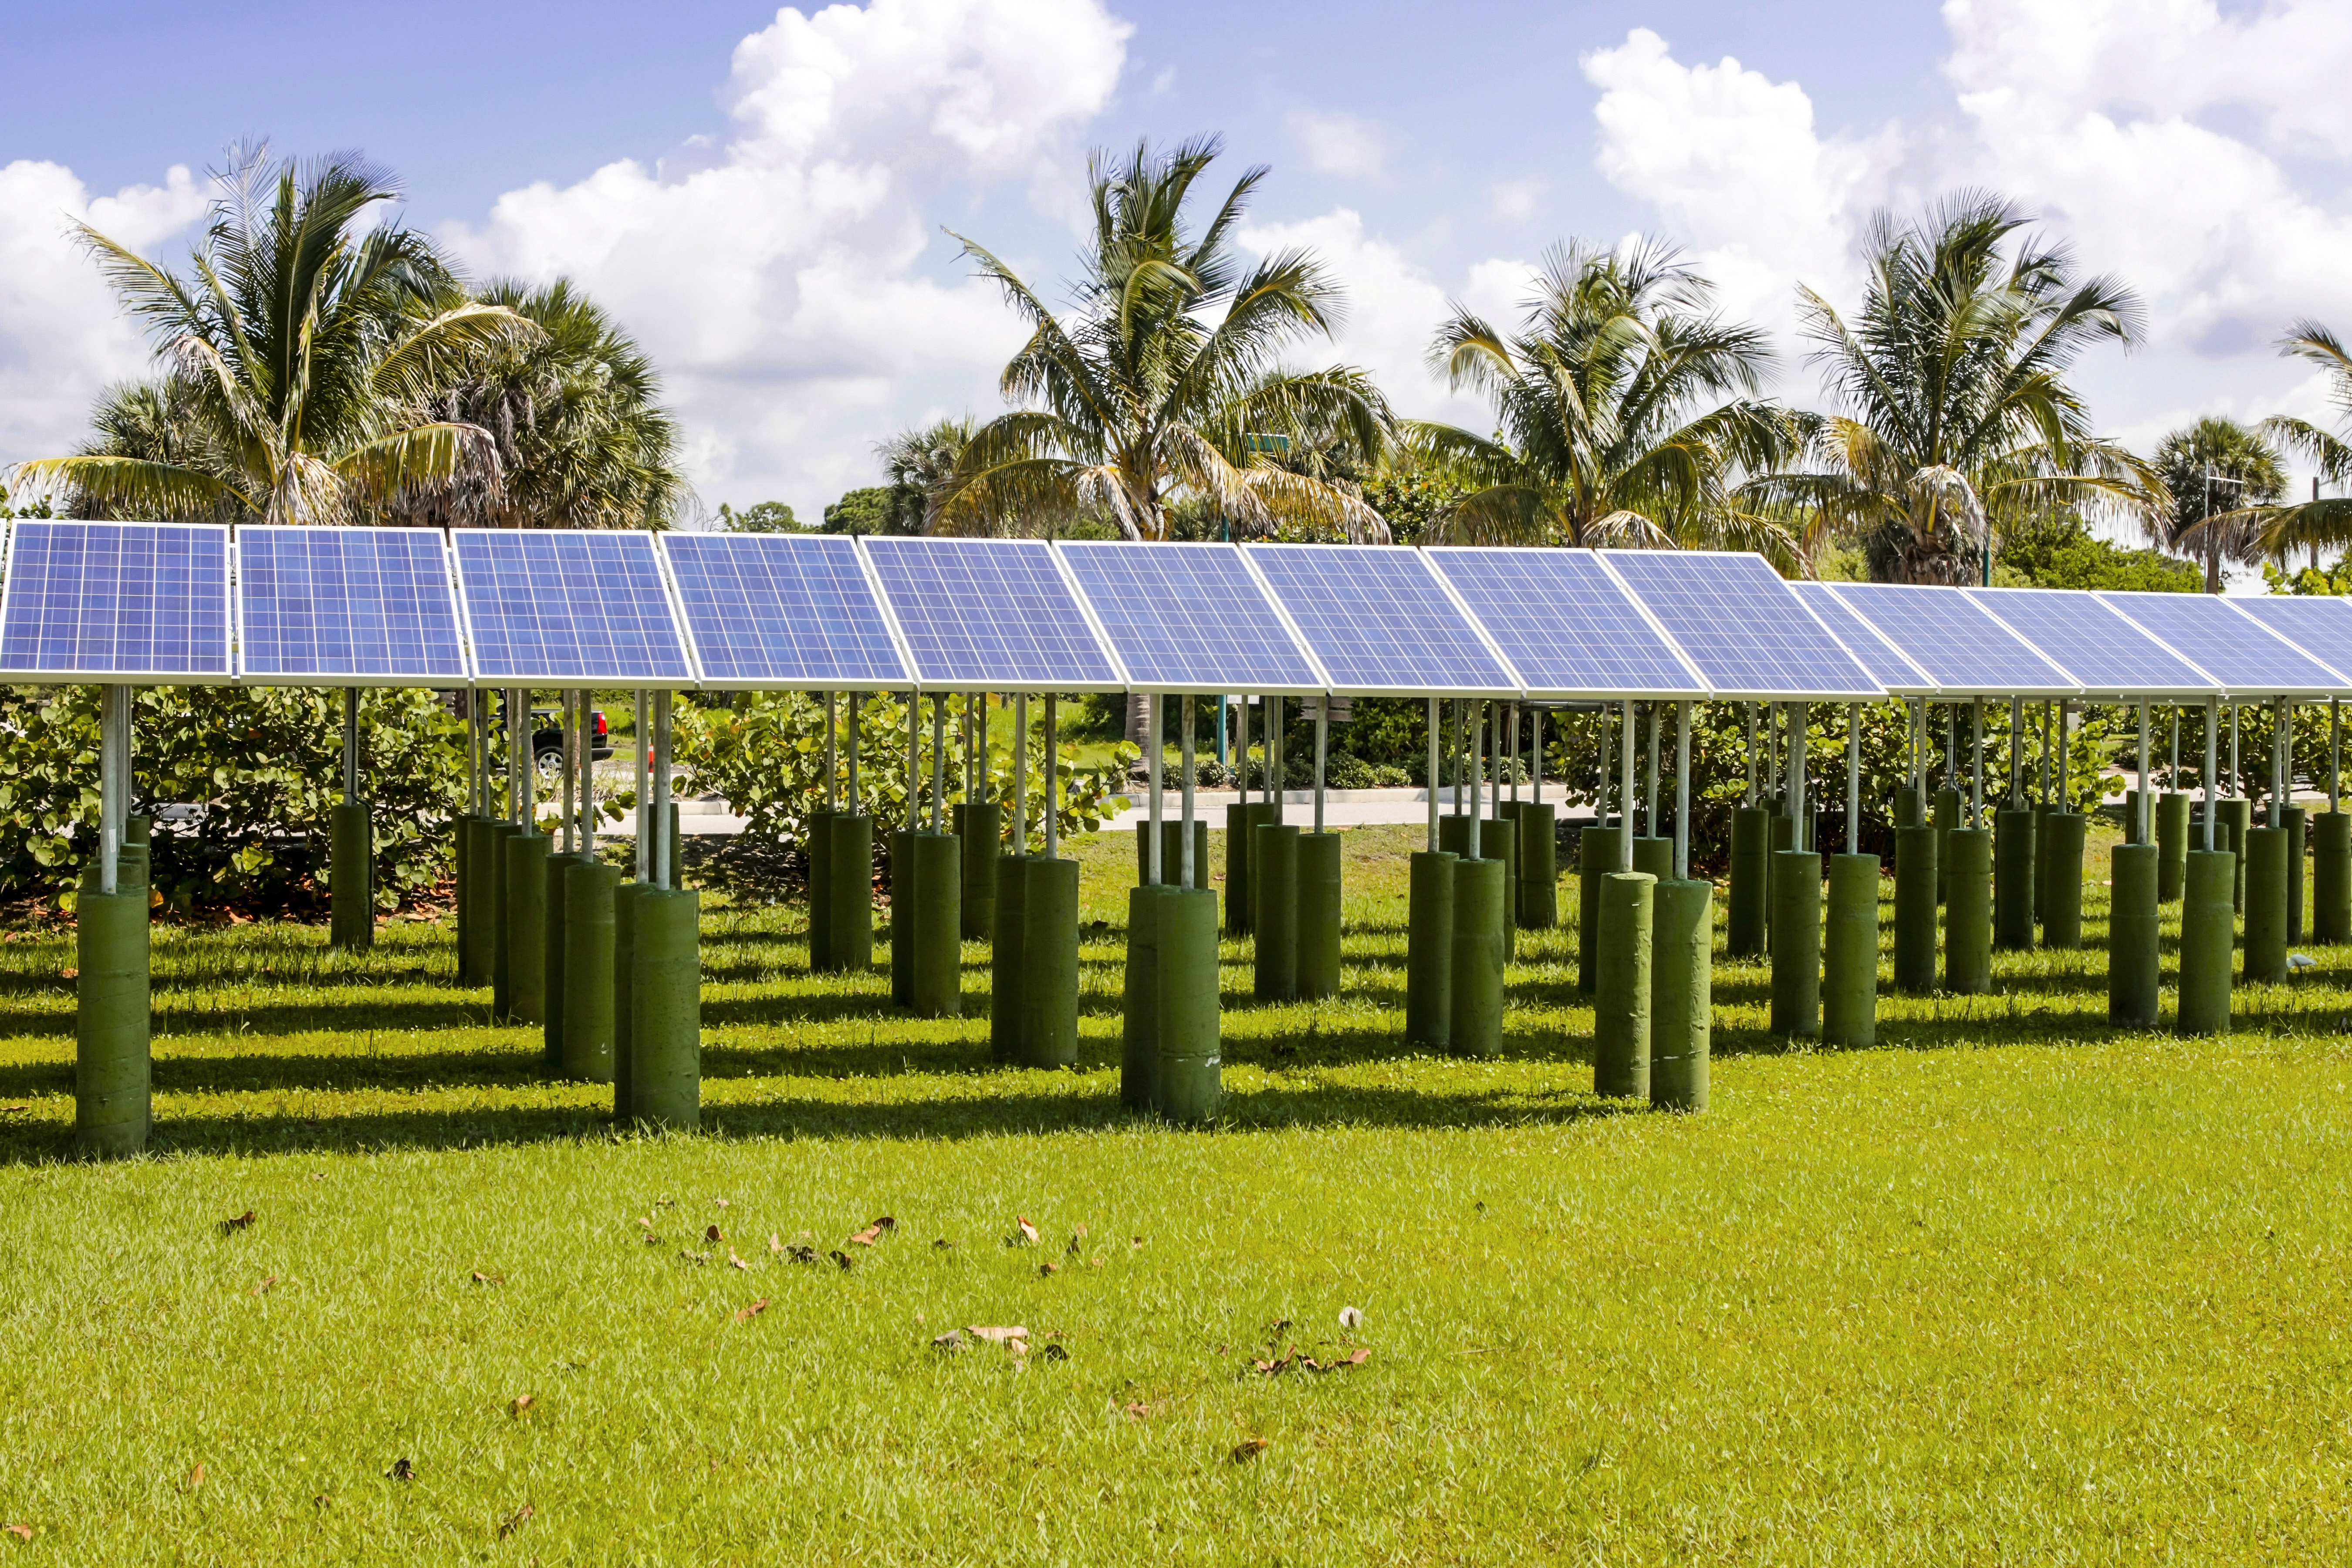
[[[1795,538],[1738,494],[1795,447],[1757,395],[1764,334],[1712,310],[1677,252],[1552,249],[1505,336],[1461,306],[1432,369],[1494,402],[1496,435],[1416,423],[1421,456],[1470,487],[1432,538],[1566,545],[1729,545],[1795,564]]]

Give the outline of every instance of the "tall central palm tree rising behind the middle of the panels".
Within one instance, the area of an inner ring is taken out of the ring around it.
[[[1303,522],[1385,538],[1381,515],[1348,484],[1277,461],[1287,440],[1303,444],[1329,425],[1383,449],[1395,421],[1357,369],[1279,364],[1296,341],[1331,334],[1338,287],[1303,249],[1256,266],[1235,254],[1232,228],[1263,167],[1192,226],[1192,183],[1218,153],[1207,136],[1169,153],[1138,143],[1120,165],[1089,160],[1094,235],[1068,317],[957,235],[1030,339],[1002,376],[1016,411],[971,433],[953,480],[934,491],[931,529],[1033,529],[1096,512],[1127,538],[1167,538],[1169,496],[1181,489],[1247,529]]]

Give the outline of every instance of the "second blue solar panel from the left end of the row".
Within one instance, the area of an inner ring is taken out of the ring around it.
[[[466,679],[437,529],[238,529],[238,665],[252,679]]]

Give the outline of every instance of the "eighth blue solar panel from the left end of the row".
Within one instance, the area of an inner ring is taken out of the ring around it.
[[[1430,550],[1529,696],[1705,696],[1590,550]]]

